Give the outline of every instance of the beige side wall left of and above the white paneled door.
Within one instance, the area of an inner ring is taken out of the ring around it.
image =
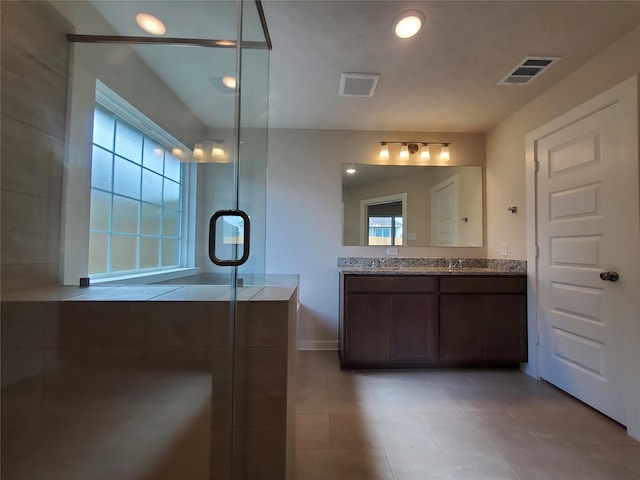
[[[487,255],[525,260],[525,135],[640,71],[640,27],[487,133]],[[507,207],[518,207],[516,215]]]

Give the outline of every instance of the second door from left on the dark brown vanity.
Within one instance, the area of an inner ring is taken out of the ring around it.
[[[438,310],[435,295],[393,295],[391,357],[399,363],[438,361]]]

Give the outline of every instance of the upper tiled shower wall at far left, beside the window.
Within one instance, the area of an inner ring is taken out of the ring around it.
[[[2,293],[57,283],[71,27],[46,2],[3,1]]]

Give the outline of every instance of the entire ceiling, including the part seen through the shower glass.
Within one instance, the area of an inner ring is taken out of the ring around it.
[[[640,24],[640,1],[262,3],[273,43],[271,128],[486,132]],[[147,11],[165,21],[167,36],[236,36],[237,11],[228,0],[53,4],[74,17],[77,33],[141,35],[133,17]],[[90,19],[87,5],[100,15]],[[406,10],[420,10],[425,25],[417,36],[403,40],[393,35],[392,23]],[[256,10],[247,12],[249,39],[260,40]],[[234,70],[233,50],[135,48],[205,125],[233,125],[228,112],[233,112],[234,96],[215,85]],[[526,56],[561,59],[528,85],[497,85]],[[375,94],[340,96],[341,72],[380,74]],[[264,80],[246,77],[243,95],[255,90],[264,97],[250,83]],[[244,119],[257,115],[249,111]]]

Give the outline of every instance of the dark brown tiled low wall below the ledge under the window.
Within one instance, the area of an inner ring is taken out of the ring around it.
[[[291,478],[296,306],[3,301],[2,478]]]

